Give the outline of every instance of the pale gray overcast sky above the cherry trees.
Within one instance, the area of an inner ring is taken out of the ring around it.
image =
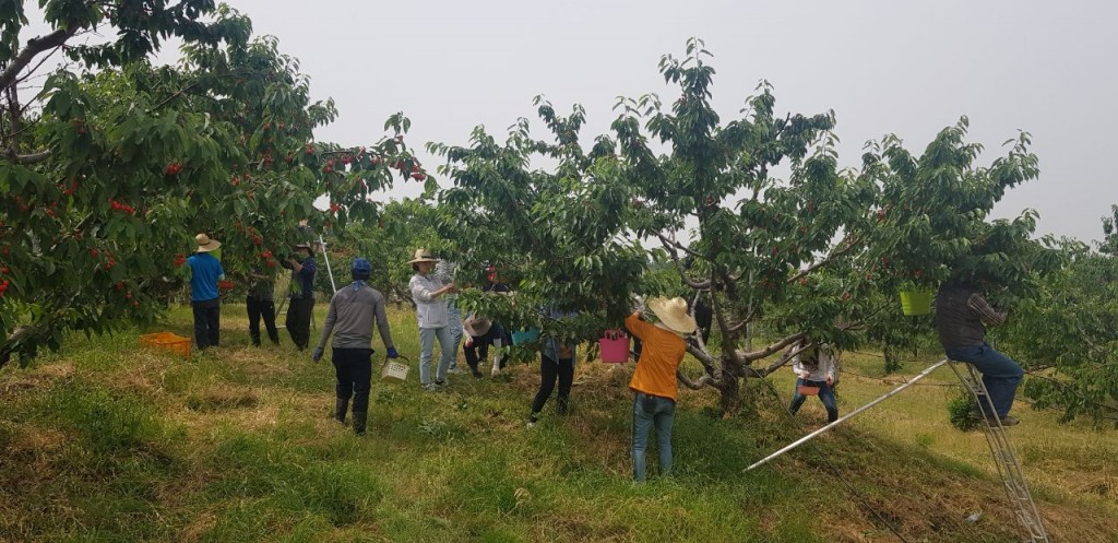
[[[1033,135],[1042,174],[1011,190],[999,217],[1040,212],[1039,233],[1101,237],[1118,128],[1118,4],[1055,1],[339,1],[233,0],[256,34],[302,62],[312,93],[339,120],[318,132],[375,141],[404,111],[410,142],[464,144],[484,124],[503,134],[536,119],[544,94],[559,112],[582,104],[584,141],[608,130],[616,96],[675,91],[660,56],[688,37],[714,54],[714,105],[739,116],[757,83],[777,110],[833,109],[840,160],[858,166],[866,140],[897,133],[919,152],[960,115],[983,162],[1017,130]],[[533,123],[543,135],[542,124]],[[500,138],[499,138],[500,139]],[[435,159],[427,159],[434,166]],[[415,185],[395,195],[417,194]]]

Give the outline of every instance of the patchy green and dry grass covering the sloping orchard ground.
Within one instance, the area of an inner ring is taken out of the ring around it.
[[[316,309],[321,324],[325,305]],[[749,472],[822,425],[819,403],[796,419],[781,411],[788,371],[771,380],[779,400],[754,383],[752,406],[728,419],[713,391],[683,391],[675,474],[659,477],[650,451],[652,478],[637,486],[632,364],[580,361],[571,412],[556,416],[552,400],[529,429],[536,357],[424,393],[415,318],[405,307],[390,319],[413,372],[402,385],[373,384],[362,438],[330,418],[330,364],[295,352],[285,330],[281,347],[249,346],[244,307],[233,303],[222,346],[189,361],[139,349],[138,330],[75,337],[32,367],[6,368],[0,541],[900,541],[891,530],[908,541],[1021,539],[982,433],[947,422],[957,387],[937,385],[954,384],[950,371]],[[190,336],[189,309],[161,329]],[[382,350],[379,338],[375,346]],[[880,358],[844,359],[844,413],[899,382],[881,377]],[[1023,422],[1011,438],[1052,541],[1118,541],[1118,436],[1058,425],[1024,404],[1015,412]]]

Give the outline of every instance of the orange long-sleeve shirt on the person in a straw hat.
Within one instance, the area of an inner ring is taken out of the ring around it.
[[[625,319],[625,328],[642,343],[641,358],[629,380],[629,390],[674,402],[679,394],[675,369],[688,352],[686,341],[679,334],[641,320],[636,313]]]

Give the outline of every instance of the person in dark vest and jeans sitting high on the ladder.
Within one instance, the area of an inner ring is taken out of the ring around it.
[[[982,373],[983,384],[989,393],[988,401],[979,399],[978,415],[992,420],[989,404],[993,404],[1003,427],[1016,424],[1017,419],[1010,416],[1013,396],[1017,384],[1025,375],[1021,366],[1008,356],[1003,355],[986,343],[984,325],[1001,325],[1005,313],[998,312],[980,293],[975,280],[954,280],[945,282],[936,294],[936,328],[939,330],[939,343],[944,352],[953,361],[966,362]]]

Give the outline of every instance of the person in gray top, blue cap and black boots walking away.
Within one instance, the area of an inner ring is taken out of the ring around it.
[[[353,433],[364,433],[369,414],[369,390],[372,387],[372,324],[380,329],[380,339],[385,341],[389,358],[397,358],[396,346],[392,344],[392,333],[388,328],[388,316],[385,313],[385,296],[366,284],[372,266],[368,260],[357,258],[350,265],[353,283],[341,289],[330,300],[330,310],[322,327],[322,338],[314,348],[314,362],[322,359],[322,350],[330,334],[334,333],[331,344],[333,353],[331,362],[338,376],[337,403],[334,419],[345,423],[345,410],[350,397],[353,399]]]

